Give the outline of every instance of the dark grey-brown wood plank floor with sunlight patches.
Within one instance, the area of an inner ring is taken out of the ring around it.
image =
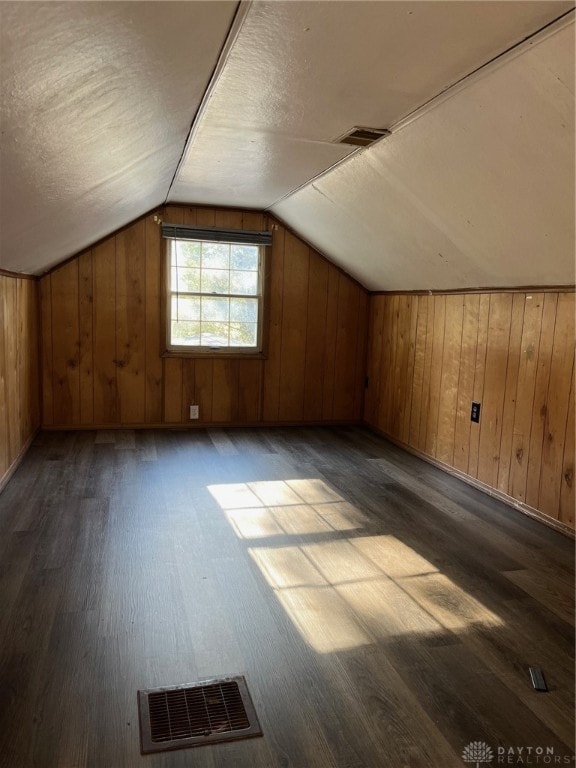
[[[573,585],[570,539],[363,429],[42,433],[0,496],[0,764],[566,764]],[[140,755],[139,688],[238,674],[263,738]]]

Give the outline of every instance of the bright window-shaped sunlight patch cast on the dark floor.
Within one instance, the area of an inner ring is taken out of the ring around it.
[[[250,540],[248,552],[266,582],[320,653],[502,623],[405,542],[362,534],[367,516],[322,480],[222,484],[209,491],[237,536]],[[282,546],[255,544],[270,537],[281,537]],[[293,543],[284,545],[288,537]]]

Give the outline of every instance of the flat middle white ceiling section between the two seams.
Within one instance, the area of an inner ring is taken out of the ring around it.
[[[272,206],[351,153],[334,139],[355,125],[392,125],[569,7],[253,3],[170,200]]]

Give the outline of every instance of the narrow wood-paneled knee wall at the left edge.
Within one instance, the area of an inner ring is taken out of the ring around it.
[[[0,275],[0,488],[40,426],[38,283]]]

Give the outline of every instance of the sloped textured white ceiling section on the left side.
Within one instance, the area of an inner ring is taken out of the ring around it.
[[[0,267],[164,202],[236,2],[0,2]]]

